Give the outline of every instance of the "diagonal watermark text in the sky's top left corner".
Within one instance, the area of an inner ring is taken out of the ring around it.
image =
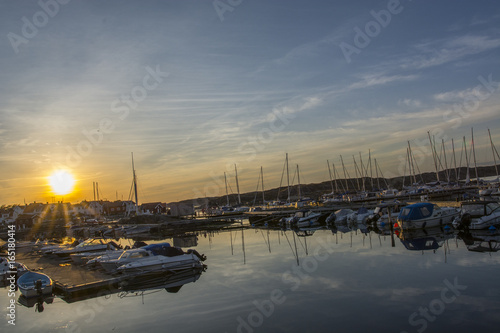
[[[10,45],[16,54],[19,53],[19,46],[26,45],[30,40],[38,35],[39,29],[45,27],[51,18],[54,18],[59,13],[60,7],[66,5],[71,0],[40,0],[38,6],[41,10],[35,12],[31,20],[23,16],[21,17],[21,35],[14,32],[9,32],[7,38]]]

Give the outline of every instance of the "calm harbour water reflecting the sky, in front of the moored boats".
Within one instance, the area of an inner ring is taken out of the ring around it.
[[[177,293],[156,289],[74,303],[55,298],[42,313],[18,305],[16,326],[5,319],[1,327],[3,332],[497,332],[499,254],[470,251],[456,234],[440,230],[406,237],[411,240],[405,246],[397,236],[393,242],[390,235],[359,230],[316,230],[309,237],[259,229],[247,229],[243,237],[241,230],[200,235],[196,249],[207,255],[208,268]],[[431,249],[418,250],[423,244]],[[7,291],[0,292],[6,318]]]

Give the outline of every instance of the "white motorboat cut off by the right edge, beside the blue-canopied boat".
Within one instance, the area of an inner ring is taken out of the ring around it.
[[[457,229],[487,229],[500,224],[500,204],[496,201],[463,201],[460,215],[453,220]]]

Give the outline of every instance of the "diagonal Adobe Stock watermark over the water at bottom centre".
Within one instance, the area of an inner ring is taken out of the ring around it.
[[[285,293],[287,291],[296,291],[305,279],[316,272],[319,263],[327,260],[334,253],[334,243],[330,243],[327,239],[321,237],[317,241],[319,245],[314,248],[311,257],[304,258],[301,266],[293,264],[291,269],[282,274],[281,281],[287,285],[287,288],[283,288],[284,290],[280,288],[273,289],[267,299],[254,300],[252,304],[255,310],[246,316],[236,318],[237,333],[253,333],[256,328],[261,327],[265,320],[274,314],[276,308],[286,302]]]

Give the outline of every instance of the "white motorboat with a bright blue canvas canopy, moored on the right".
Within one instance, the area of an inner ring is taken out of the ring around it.
[[[398,215],[403,229],[424,229],[451,224],[459,214],[454,207],[439,207],[430,202],[419,202],[404,207]]]

